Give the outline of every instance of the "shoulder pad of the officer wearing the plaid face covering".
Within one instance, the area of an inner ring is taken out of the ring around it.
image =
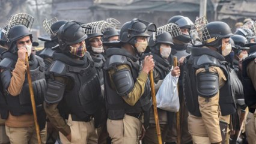
[[[52,65],[50,65],[49,72],[56,73],[56,74],[64,74],[67,71],[67,65],[61,61],[54,61]]]

